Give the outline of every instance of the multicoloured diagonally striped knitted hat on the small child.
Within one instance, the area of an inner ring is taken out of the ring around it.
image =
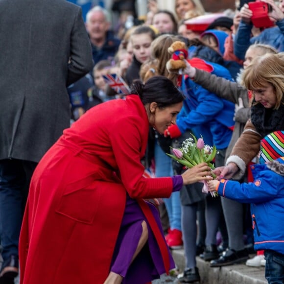
[[[260,143],[260,164],[284,156],[284,131],[266,135]]]

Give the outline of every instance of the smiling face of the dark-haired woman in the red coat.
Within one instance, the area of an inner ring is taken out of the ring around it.
[[[176,116],[180,112],[183,102],[179,102],[165,108],[155,107],[154,109],[151,108],[152,104],[153,103],[150,105],[151,116],[149,118],[149,123],[160,134],[164,134],[164,131],[168,126],[175,124]]]

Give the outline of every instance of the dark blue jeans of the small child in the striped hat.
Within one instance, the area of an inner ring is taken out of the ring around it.
[[[265,278],[268,284],[284,283],[284,255],[276,251],[265,250]]]

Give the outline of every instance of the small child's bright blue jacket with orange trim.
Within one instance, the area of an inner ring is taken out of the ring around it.
[[[251,203],[255,250],[270,249],[284,254],[284,157],[254,165],[252,172],[253,183],[221,180],[218,193]]]

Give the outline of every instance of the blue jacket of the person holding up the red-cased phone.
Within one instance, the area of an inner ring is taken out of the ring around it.
[[[252,24],[240,21],[234,40],[234,53],[239,59],[244,59],[245,52],[251,44],[264,44],[284,51],[284,20],[276,22],[277,26],[264,29],[260,35],[251,38]]]

